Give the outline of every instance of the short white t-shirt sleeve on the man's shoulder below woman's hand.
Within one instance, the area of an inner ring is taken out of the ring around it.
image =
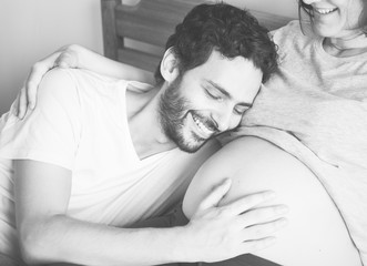
[[[81,135],[78,84],[68,70],[47,73],[34,111],[23,120],[12,114],[0,134],[0,156],[34,160],[72,170]]]

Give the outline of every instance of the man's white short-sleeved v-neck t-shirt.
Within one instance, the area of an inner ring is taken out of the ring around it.
[[[129,83],[83,70],[48,73],[31,114],[23,121],[10,113],[1,119],[0,196],[13,201],[9,158],[28,158],[72,171],[68,215],[73,218],[126,226],[161,215],[180,201],[218,146],[210,142],[194,154],[173,149],[140,160],[128,124]],[[150,89],[132,83],[141,93]],[[3,219],[9,221],[6,213],[12,208],[0,209]],[[0,225],[0,242],[1,231]]]

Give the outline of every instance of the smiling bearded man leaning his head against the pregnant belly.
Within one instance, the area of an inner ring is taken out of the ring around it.
[[[274,217],[246,211],[269,193],[217,207],[228,181],[185,226],[128,227],[183,197],[218,149],[214,137],[239,124],[275,70],[267,31],[248,12],[218,3],[197,6],[176,28],[154,88],[88,70],[50,71],[32,112],[1,119],[1,262],[156,265],[264,247],[272,232],[246,229]]]

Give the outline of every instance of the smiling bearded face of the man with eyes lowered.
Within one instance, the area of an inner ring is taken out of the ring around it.
[[[160,114],[164,133],[182,151],[196,152],[213,136],[239,124],[262,78],[251,61],[213,51],[204,64],[186,71],[163,92]]]

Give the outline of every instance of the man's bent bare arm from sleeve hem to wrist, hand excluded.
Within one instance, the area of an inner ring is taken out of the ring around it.
[[[29,264],[153,265],[177,254],[181,228],[121,229],[69,217],[69,170],[16,161],[14,180],[17,228]]]

